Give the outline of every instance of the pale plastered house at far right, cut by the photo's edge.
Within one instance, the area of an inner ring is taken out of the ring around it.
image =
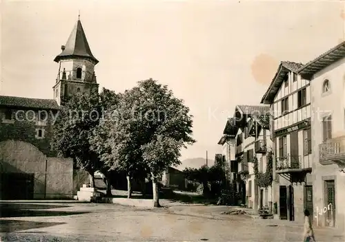
[[[313,97],[314,222],[345,231],[345,42],[307,63]]]

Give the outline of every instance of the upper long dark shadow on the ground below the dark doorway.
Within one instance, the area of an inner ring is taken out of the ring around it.
[[[50,204],[0,203],[0,217],[59,217],[88,212],[52,211],[52,208],[68,208]]]

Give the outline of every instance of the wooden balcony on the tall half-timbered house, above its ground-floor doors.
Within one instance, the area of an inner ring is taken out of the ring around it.
[[[276,173],[311,173],[309,156],[277,157],[275,160]]]

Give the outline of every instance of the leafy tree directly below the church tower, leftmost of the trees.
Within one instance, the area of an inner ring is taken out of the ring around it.
[[[77,94],[61,107],[55,120],[52,148],[63,157],[71,157],[74,166],[88,171],[90,185],[101,163],[95,151],[90,150],[90,134],[99,124],[98,94]]]

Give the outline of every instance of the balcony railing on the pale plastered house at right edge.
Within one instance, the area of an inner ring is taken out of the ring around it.
[[[345,160],[345,136],[335,137],[319,144],[319,162]]]

